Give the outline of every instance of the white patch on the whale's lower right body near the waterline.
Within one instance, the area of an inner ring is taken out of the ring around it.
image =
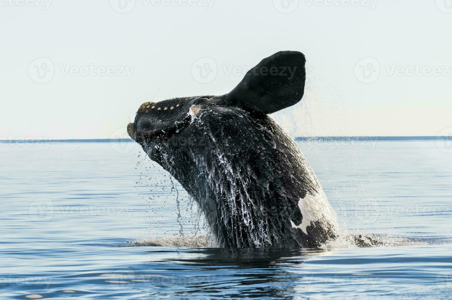
[[[300,225],[295,225],[295,223],[290,220],[292,228],[299,228],[305,234],[308,234],[306,228],[311,225],[311,222],[326,221],[337,229],[338,225],[336,214],[330,206],[330,203],[328,202],[328,199],[323,191],[316,193],[315,196],[306,193],[304,198],[300,198],[298,207],[300,208],[303,218],[301,219]]]

